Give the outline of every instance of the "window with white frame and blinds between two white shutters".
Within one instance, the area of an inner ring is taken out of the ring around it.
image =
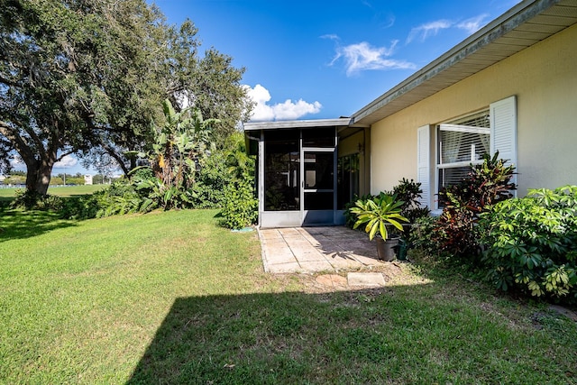
[[[446,124],[438,124],[436,191],[458,183],[471,164],[481,164],[490,151],[489,110]]]

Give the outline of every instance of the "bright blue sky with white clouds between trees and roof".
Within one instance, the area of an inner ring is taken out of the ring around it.
[[[517,3],[155,1],[169,23],[195,23],[201,51],[215,47],[246,68],[252,121],[353,115]],[[74,158],[55,166],[62,172],[96,173]]]

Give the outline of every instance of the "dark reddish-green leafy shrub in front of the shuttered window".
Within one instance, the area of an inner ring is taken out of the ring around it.
[[[436,229],[438,237],[444,240],[441,248],[472,262],[478,262],[480,254],[477,223],[481,213],[512,197],[511,190],[516,188],[510,182],[515,167],[499,160],[499,152],[492,158],[485,154],[483,160],[481,165],[472,166],[460,183],[439,192],[439,202],[444,207]]]

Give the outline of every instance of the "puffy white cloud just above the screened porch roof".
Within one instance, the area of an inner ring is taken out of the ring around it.
[[[247,87],[248,96],[256,103],[252,110],[252,122],[298,119],[307,114],[318,114],[323,107],[319,102],[307,103],[303,99],[298,99],[296,102],[287,99],[284,103],[269,105],[271,97],[268,89],[260,84],[254,88],[245,87]]]

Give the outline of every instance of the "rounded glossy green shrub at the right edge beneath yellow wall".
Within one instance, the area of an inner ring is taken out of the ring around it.
[[[577,301],[577,186],[532,189],[482,216],[487,275],[502,290]]]

